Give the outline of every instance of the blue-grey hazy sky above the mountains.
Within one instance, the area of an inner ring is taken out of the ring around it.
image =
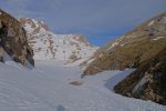
[[[103,46],[166,11],[166,0],[0,0],[0,8],[43,20],[54,33],[81,33]]]

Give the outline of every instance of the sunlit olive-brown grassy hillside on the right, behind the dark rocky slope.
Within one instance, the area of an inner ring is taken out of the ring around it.
[[[166,47],[166,12],[147,20],[123,37],[98,49],[84,75],[105,70],[137,68]]]

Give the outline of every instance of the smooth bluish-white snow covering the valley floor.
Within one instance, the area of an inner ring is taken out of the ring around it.
[[[118,73],[80,79],[77,67],[62,62],[37,62],[34,70],[0,63],[0,111],[166,111],[164,105],[125,98],[104,87]],[[72,85],[72,81],[83,84]]]

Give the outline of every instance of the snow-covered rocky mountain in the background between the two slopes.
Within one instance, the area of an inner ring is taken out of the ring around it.
[[[28,32],[35,60],[71,60],[90,58],[96,47],[80,34],[54,34],[43,21],[20,19]]]

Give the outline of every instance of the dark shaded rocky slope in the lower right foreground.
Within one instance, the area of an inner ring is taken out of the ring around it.
[[[115,92],[166,104],[166,48],[114,88]]]

